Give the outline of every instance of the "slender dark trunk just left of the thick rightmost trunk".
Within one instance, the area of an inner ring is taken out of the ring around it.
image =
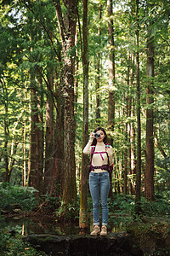
[[[141,189],[141,125],[140,125],[140,77],[139,77],[139,0],[136,0],[136,84],[137,84],[137,161],[136,161],[136,196],[135,209],[139,212],[140,189]]]

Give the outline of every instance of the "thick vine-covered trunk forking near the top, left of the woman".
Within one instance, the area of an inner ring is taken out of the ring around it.
[[[64,61],[64,163],[65,178],[63,186],[63,201],[68,206],[77,199],[76,168],[75,168],[75,118],[74,118],[74,67],[75,58],[72,49],[75,46],[77,2],[74,0],[65,3],[64,17],[59,0],[54,1],[54,7],[59,23],[59,32],[62,42]]]

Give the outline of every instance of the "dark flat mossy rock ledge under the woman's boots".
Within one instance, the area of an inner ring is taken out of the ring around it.
[[[143,255],[139,247],[129,243],[126,233],[112,233],[106,237],[30,235],[23,238],[50,255],[132,256]]]

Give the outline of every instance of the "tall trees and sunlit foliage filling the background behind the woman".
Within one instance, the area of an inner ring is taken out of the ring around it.
[[[86,228],[82,150],[102,126],[111,203],[131,198],[139,214],[161,199],[170,214],[169,0],[1,0],[0,12],[1,193],[33,189],[37,209],[79,212]]]

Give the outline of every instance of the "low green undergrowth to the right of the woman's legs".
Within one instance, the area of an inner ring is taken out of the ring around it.
[[[155,218],[168,219],[170,216],[170,202],[166,198],[157,198],[156,201],[146,201],[141,198],[140,208],[141,215],[135,214],[135,198],[133,195],[116,195],[113,199],[108,200],[109,207],[109,224],[117,227],[121,226],[121,230],[127,229],[127,224],[133,223],[134,219]]]

